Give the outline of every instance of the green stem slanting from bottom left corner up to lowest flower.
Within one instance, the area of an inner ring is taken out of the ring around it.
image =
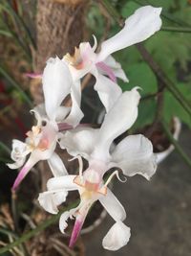
[[[48,219],[46,221],[42,221],[36,228],[32,229],[29,232],[24,233],[19,239],[17,239],[13,243],[8,244],[8,245],[4,246],[3,248],[0,248],[0,254],[5,253],[6,251],[11,250],[11,248],[28,241],[29,239],[31,239],[32,237],[37,235],[39,232],[43,231],[44,229],[46,229],[47,227],[49,227],[50,225],[52,225],[53,223],[58,221],[63,212],[69,211],[71,208],[74,208],[77,205],[77,203],[78,203],[78,201],[75,202],[73,205],[62,209],[57,215],[51,217],[50,219]]]

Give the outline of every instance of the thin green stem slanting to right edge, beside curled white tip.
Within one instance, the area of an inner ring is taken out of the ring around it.
[[[170,129],[168,128],[167,124],[162,121],[161,122],[162,124],[162,127],[166,133],[166,136],[168,137],[169,141],[174,145],[175,149],[180,153],[182,159],[185,161],[185,163],[191,167],[191,160],[190,158],[188,157],[188,155],[181,149],[179,143],[174,139]]]

